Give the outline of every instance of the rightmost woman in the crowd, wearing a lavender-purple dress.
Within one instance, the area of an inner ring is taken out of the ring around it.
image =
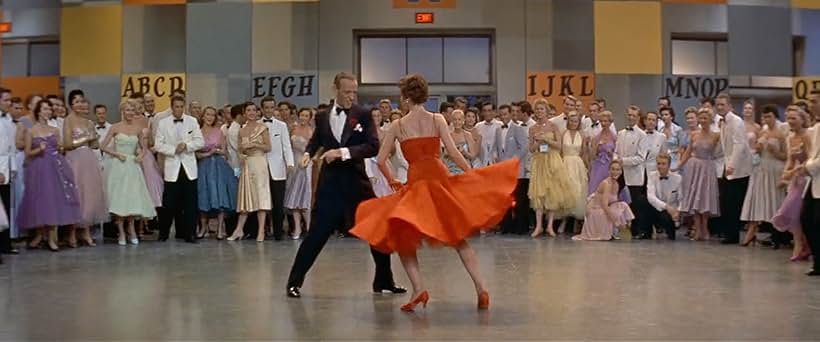
[[[806,188],[808,177],[799,172],[799,166],[806,163],[808,151],[811,151],[811,137],[806,133],[809,123],[808,115],[799,107],[790,106],[786,109],[786,120],[791,133],[786,139],[788,157],[786,168],[783,171],[783,181],[790,182],[786,191],[786,198],[780,209],[772,219],[772,224],[779,231],[789,231],[794,235],[794,249],[791,261],[808,260],[811,255],[806,236],[800,225],[800,210],[803,207],[803,189]]]

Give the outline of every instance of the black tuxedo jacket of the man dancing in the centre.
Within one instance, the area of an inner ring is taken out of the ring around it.
[[[370,116],[370,110],[353,105],[347,113],[342,131],[342,141],[337,141],[330,128],[333,107],[316,113],[316,129],[308,142],[306,152],[320,157],[318,152],[346,147],[350,159],[324,164],[316,187],[317,211],[343,210],[348,221],[355,216],[356,207],[364,200],[375,197],[370,178],[364,168],[364,160],[379,152],[379,135]],[[322,213],[316,213],[322,214]],[[349,223],[352,224],[352,221]]]

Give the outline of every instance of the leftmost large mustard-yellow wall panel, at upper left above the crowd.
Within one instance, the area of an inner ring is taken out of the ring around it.
[[[122,6],[65,7],[60,74],[117,75],[122,70]]]

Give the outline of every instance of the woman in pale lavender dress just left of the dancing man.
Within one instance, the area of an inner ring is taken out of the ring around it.
[[[305,149],[307,148],[310,137],[313,136],[313,127],[311,126],[312,113],[310,109],[302,108],[299,110],[298,120],[293,125],[290,133],[290,145],[293,149],[293,156],[295,160],[299,160]],[[298,240],[302,237],[302,222],[304,221],[305,230],[310,228],[310,207],[312,201],[312,175],[313,163],[309,163],[307,167],[302,167],[297,163],[293,172],[288,176],[285,184],[285,208],[290,210],[293,215],[293,228],[291,229],[291,238]]]

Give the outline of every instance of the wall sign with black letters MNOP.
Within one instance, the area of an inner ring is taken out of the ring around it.
[[[715,75],[664,75],[661,94],[672,100],[678,123],[687,107],[698,106],[704,97],[715,98],[729,91],[729,77]]]

